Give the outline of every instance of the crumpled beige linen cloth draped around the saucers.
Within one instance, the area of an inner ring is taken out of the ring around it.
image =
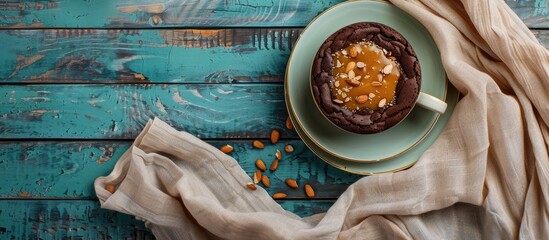
[[[414,167],[300,218],[245,188],[233,158],[156,119],[96,180],[102,207],[159,239],[549,239],[549,52],[502,0],[393,3],[429,29],[463,94]]]

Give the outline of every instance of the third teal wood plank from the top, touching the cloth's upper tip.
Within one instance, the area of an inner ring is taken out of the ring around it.
[[[133,139],[154,116],[200,138],[297,137],[281,84],[7,85],[0,106],[4,139]]]

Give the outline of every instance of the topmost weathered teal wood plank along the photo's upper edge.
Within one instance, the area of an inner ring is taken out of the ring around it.
[[[505,0],[529,26],[549,27],[547,0]],[[30,1],[0,2],[7,28],[303,27],[343,0]]]

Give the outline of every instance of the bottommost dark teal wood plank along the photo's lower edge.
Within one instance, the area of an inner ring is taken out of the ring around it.
[[[299,216],[325,212],[334,200],[278,201]],[[154,239],[142,221],[102,209],[95,200],[0,200],[0,239]]]

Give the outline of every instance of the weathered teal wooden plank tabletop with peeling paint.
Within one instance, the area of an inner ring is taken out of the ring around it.
[[[250,175],[291,144],[267,191],[300,216],[361,176],[335,169],[285,127],[286,62],[332,1],[0,1],[0,239],[150,239],[93,190],[149,118],[231,153]],[[507,0],[549,45],[547,0]],[[269,143],[272,129],[281,140]],[[253,149],[253,140],[266,148]]]

